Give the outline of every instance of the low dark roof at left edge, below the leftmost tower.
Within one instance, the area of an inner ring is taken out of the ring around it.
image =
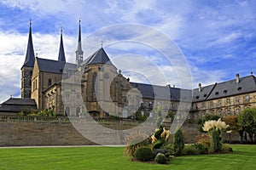
[[[34,99],[9,98],[0,105],[0,112],[20,112],[23,108],[37,109]]]

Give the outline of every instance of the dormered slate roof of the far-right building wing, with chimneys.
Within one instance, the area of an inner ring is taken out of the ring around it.
[[[239,82],[233,79],[202,87],[201,92],[199,92],[198,88],[195,88],[193,90],[193,102],[247,94],[250,92],[256,92],[256,78],[253,75],[241,77]]]

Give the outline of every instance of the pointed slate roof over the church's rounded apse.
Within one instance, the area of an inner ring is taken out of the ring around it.
[[[84,65],[107,64],[113,65],[103,48],[98,49],[94,54],[84,60]]]

